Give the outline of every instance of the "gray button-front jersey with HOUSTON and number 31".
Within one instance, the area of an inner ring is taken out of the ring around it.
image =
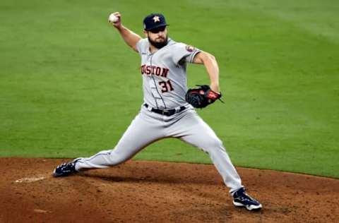
[[[165,47],[150,53],[147,38],[139,40],[136,48],[141,55],[144,102],[157,109],[187,105],[186,64],[200,50],[169,39]]]

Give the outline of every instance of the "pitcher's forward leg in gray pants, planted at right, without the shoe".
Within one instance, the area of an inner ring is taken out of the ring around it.
[[[173,128],[174,137],[178,137],[186,143],[207,152],[226,186],[230,188],[230,193],[243,187],[242,180],[234,168],[225,147],[222,145],[222,141],[195,111],[190,111],[176,125],[180,126],[180,128]]]

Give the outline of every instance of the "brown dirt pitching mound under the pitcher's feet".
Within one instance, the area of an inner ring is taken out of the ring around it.
[[[53,178],[61,159],[0,159],[0,222],[336,222],[339,180],[238,168],[263,210],[234,207],[213,165],[126,162]]]

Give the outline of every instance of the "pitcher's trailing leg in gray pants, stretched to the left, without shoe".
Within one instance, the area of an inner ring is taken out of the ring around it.
[[[144,119],[144,114],[138,114],[113,150],[104,150],[92,157],[79,159],[76,170],[121,164],[163,136],[160,125]]]

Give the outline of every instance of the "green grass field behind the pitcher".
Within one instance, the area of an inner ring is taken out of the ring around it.
[[[338,1],[0,3],[0,156],[78,157],[114,147],[142,102],[138,54],[107,24],[169,35],[214,54],[225,104],[198,111],[234,164],[339,177]],[[189,66],[189,85],[208,83]],[[179,140],[136,159],[210,162]]]

